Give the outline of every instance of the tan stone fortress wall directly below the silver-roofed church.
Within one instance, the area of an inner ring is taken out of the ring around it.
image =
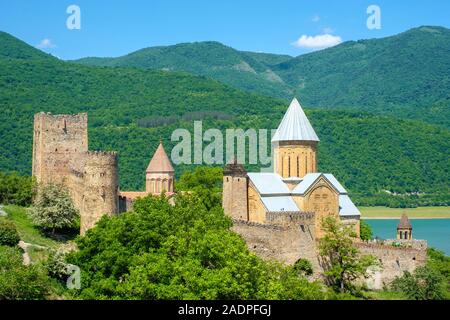
[[[313,264],[315,272],[320,270],[312,225],[234,220],[232,230],[239,233],[249,249],[263,259],[294,264],[298,259],[305,258]]]

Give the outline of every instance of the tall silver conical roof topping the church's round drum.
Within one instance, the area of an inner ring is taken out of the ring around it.
[[[278,141],[320,141],[296,98],[272,138],[272,142]]]

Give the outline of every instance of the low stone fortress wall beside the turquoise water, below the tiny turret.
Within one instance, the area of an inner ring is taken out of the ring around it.
[[[380,268],[371,268],[367,284],[371,289],[382,289],[383,285],[392,282],[395,277],[402,276],[405,271],[413,272],[423,266],[427,260],[427,244],[424,240],[404,242],[404,246],[394,247],[393,241],[384,245],[371,242],[355,243],[361,254],[373,255],[381,263]]]

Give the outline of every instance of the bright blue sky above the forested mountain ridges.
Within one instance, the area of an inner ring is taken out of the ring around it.
[[[66,27],[73,4],[81,10],[80,30]],[[366,26],[372,4],[381,10],[379,30]],[[331,45],[421,25],[448,28],[449,13],[448,0],[0,0],[0,30],[62,59],[206,40],[297,56],[317,50],[321,40]]]

